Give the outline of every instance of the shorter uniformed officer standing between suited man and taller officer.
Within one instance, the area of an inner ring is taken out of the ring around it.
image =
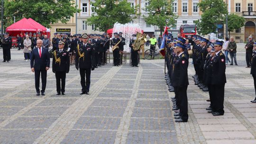
[[[57,95],[65,94],[66,73],[69,72],[69,53],[64,50],[64,41],[58,44],[59,49],[54,51],[53,72],[56,77]]]

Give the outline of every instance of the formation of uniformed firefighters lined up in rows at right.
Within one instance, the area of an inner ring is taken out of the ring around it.
[[[172,98],[175,122],[188,121],[187,71],[190,55],[196,72],[192,76],[195,85],[203,91],[209,91],[210,107],[206,110],[213,116],[224,115],[226,64],[225,55],[221,52],[223,42],[217,40],[211,43],[197,35],[191,39],[180,36],[177,39],[170,38],[166,39],[166,42],[165,61],[168,72],[165,74],[165,80],[169,91],[175,94]]]

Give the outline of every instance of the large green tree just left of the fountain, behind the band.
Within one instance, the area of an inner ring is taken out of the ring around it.
[[[126,24],[136,18],[136,7],[131,7],[127,0],[95,0],[91,2],[95,12],[87,19],[87,24],[94,24],[95,30],[107,31],[116,22]]]

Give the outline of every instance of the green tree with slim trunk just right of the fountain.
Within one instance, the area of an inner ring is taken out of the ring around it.
[[[160,33],[165,26],[173,27],[175,19],[178,18],[173,12],[174,0],[147,0],[148,6],[146,10],[148,13],[143,15],[147,24],[157,26],[160,28]]]

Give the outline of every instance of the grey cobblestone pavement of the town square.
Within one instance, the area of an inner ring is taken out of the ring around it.
[[[207,113],[208,92],[193,84],[189,65],[188,123],[174,123],[164,60],[100,67],[92,71],[89,96],[79,94],[74,65],[64,96],[56,96],[49,71],[46,95],[36,96],[29,62],[21,51],[11,54],[10,63],[0,63],[0,144],[256,144],[255,90],[243,44],[238,66],[227,65],[224,116]]]

